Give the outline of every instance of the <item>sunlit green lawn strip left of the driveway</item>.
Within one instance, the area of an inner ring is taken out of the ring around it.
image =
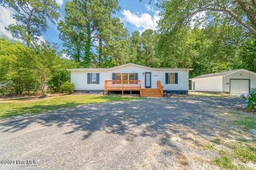
[[[0,99],[0,118],[33,114],[58,108],[74,107],[83,104],[105,103],[109,101],[135,100],[130,96],[102,96],[102,95],[66,95],[47,98],[15,98]]]

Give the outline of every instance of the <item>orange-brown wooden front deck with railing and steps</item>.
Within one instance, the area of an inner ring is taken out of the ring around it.
[[[142,89],[140,80],[105,80],[105,92],[107,95],[108,91],[140,91],[141,97],[163,97],[163,86],[161,81],[157,81],[156,89]]]

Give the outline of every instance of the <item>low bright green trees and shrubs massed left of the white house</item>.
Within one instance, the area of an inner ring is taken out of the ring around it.
[[[56,47],[47,43],[31,48],[15,41],[0,38],[0,91],[3,94],[34,94],[45,87],[59,92],[62,83],[69,81],[68,68],[75,62],[59,57]]]

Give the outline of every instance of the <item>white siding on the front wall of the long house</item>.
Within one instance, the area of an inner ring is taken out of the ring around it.
[[[105,80],[112,80],[112,73],[138,73],[138,80],[141,80],[141,87],[145,88],[145,72],[151,72],[151,88],[156,88],[156,81],[160,80],[164,90],[188,90],[187,70],[152,70],[145,67],[127,65],[111,70],[97,71],[100,73],[99,84],[87,84],[87,73],[95,71],[71,71],[71,82],[75,83],[76,90],[104,90]],[[165,84],[165,73],[178,73],[179,84]],[[144,73],[144,74],[143,74]],[[129,78],[134,75],[129,75]]]

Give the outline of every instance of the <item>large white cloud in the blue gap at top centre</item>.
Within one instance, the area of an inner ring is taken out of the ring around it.
[[[156,13],[154,16],[151,16],[149,13],[134,14],[129,10],[123,10],[122,14],[124,15],[122,21],[135,25],[135,27],[137,27],[140,31],[146,29],[155,30],[157,27],[157,21],[160,19]]]

